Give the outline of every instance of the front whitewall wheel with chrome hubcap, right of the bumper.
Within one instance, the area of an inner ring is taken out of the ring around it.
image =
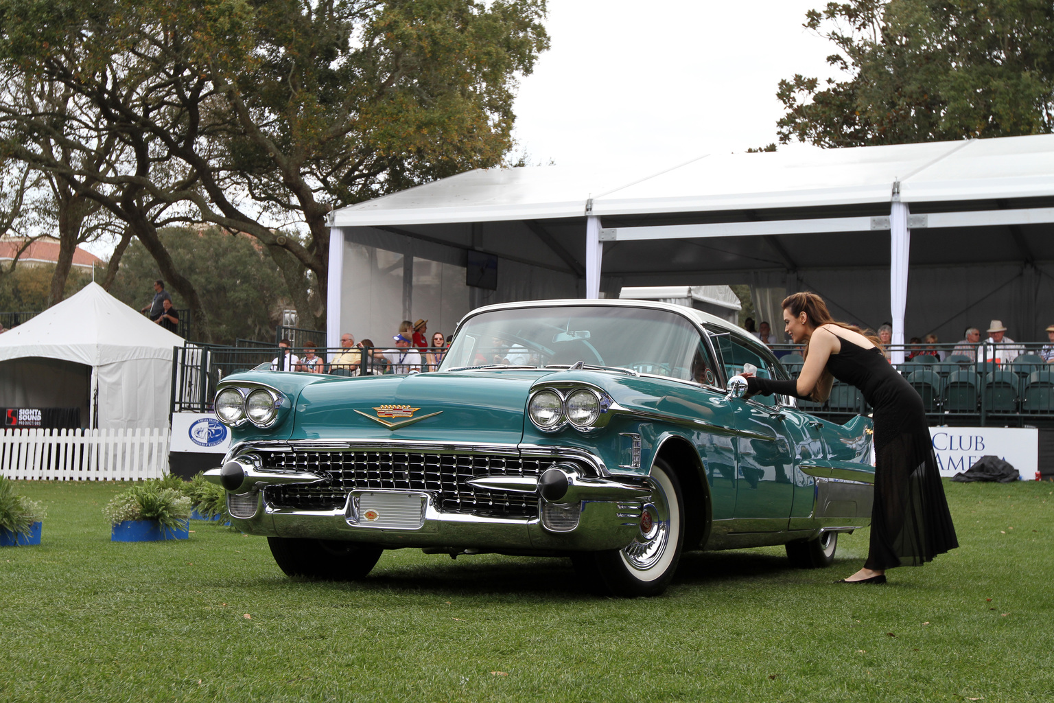
[[[641,511],[640,530],[632,542],[622,549],[571,558],[582,577],[611,595],[659,595],[677,571],[684,544],[681,484],[662,460],[656,460],[649,482],[651,500]]]

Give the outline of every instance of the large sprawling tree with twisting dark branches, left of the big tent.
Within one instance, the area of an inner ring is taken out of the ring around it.
[[[117,173],[46,168],[128,222],[162,271],[159,211],[250,234],[319,327],[329,211],[499,164],[516,77],[548,45],[544,13],[544,0],[0,0],[0,65],[106,118],[128,150]],[[30,130],[41,117],[7,115]]]

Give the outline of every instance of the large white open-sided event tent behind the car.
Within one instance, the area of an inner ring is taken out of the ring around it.
[[[390,325],[431,312],[449,332],[485,302],[721,284],[748,284],[773,321],[784,294],[813,290],[836,317],[892,321],[895,343],[990,319],[1042,339],[1052,223],[1054,135],[709,155],[656,174],[479,170],[331,214],[328,344],[377,329],[377,310]],[[479,266],[496,284],[469,286]]]

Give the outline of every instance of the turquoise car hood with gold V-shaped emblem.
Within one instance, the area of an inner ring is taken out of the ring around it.
[[[531,385],[551,371],[332,378],[296,401],[293,440],[519,444]]]

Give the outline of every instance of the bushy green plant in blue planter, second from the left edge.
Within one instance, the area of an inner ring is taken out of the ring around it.
[[[178,488],[167,487],[163,480],[132,485],[115,495],[103,512],[110,519],[112,542],[156,542],[190,536],[191,500]]]

